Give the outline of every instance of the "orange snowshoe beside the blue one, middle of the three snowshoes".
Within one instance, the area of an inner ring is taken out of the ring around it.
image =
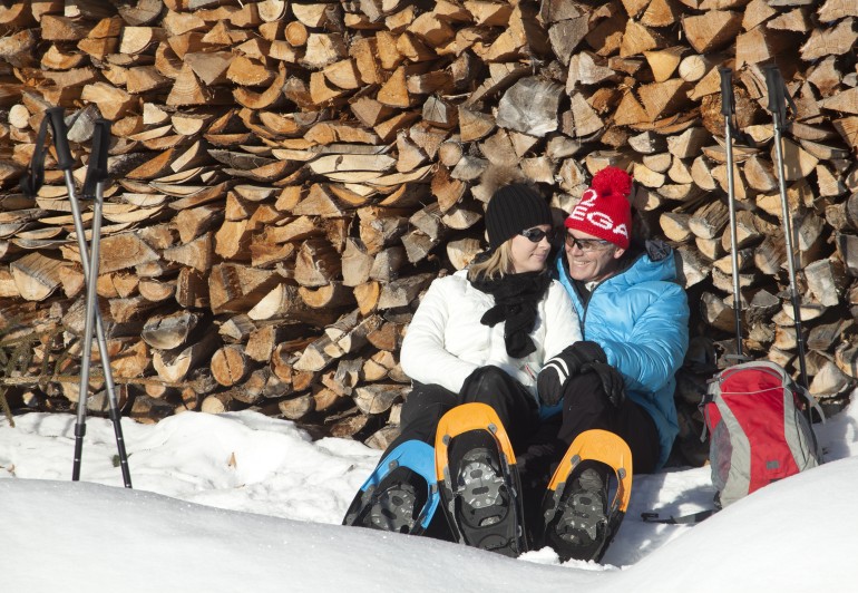
[[[465,404],[441,418],[435,465],[457,542],[513,557],[527,551],[515,454],[491,407]]]

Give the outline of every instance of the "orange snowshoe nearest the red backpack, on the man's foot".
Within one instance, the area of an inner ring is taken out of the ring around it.
[[[613,475],[613,479],[612,479]],[[608,500],[611,484],[614,496]],[[582,432],[564,455],[543,500],[544,545],[563,562],[602,560],[632,495],[632,451],[606,430]]]

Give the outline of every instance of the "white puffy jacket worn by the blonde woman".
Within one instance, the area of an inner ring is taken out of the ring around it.
[[[416,381],[458,393],[474,370],[494,364],[536,398],[536,375],[545,361],[581,340],[575,308],[566,290],[553,280],[539,301],[538,319],[530,332],[536,350],[516,359],[506,351],[505,323],[494,328],[480,323],[494,305],[495,298],[475,289],[466,270],[435,280],[408,327],[400,351],[402,370]]]

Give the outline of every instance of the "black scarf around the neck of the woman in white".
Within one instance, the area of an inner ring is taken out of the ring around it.
[[[471,280],[474,288],[495,298],[495,307],[479,321],[489,328],[506,321],[504,341],[510,357],[525,358],[536,350],[529,333],[536,325],[537,304],[550,282],[544,271],[508,274],[497,280]]]

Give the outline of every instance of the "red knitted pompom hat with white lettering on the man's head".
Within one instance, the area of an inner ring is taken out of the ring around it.
[[[616,167],[605,167],[593,177],[578,205],[566,218],[566,229],[574,229],[628,249],[632,231],[632,176]]]

